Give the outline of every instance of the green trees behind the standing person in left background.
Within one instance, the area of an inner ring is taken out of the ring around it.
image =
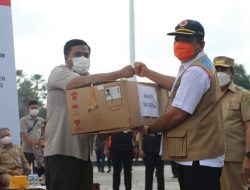
[[[44,100],[47,96],[47,88],[42,75],[34,74],[30,78],[24,74],[23,70],[16,71],[19,117],[27,115],[27,104],[30,100],[37,100],[41,110],[39,116],[46,118],[46,108]]]

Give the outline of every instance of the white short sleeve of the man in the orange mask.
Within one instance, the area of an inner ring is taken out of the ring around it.
[[[200,67],[190,67],[182,75],[172,106],[193,114],[209,88],[210,78],[208,73]]]

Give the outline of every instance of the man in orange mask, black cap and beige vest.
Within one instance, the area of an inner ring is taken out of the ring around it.
[[[141,132],[164,132],[162,158],[178,163],[181,190],[220,190],[224,164],[221,92],[213,63],[203,51],[204,28],[198,21],[184,20],[168,35],[175,36],[174,53],[181,61],[177,77],[135,63],[138,76],[171,90],[165,114]]]

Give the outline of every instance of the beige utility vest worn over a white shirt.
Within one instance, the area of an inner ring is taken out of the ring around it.
[[[193,115],[164,133],[163,160],[194,161],[224,154],[221,90],[215,68],[207,56],[201,57],[190,65],[192,66],[207,71],[211,80],[210,88],[203,95]],[[182,75],[176,79],[168,107],[172,105],[181,78]]]

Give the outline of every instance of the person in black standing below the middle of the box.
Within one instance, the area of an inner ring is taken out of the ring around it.
[[[132,189],[132,164],[133,156],[138,151],[136,147],[135,132],[119,132],[111,135],[110,154],[113,164],[113,190],[119,190],[121,171],[124,170],[125,190]],[[106,154],[109,153],[105,147]]]

